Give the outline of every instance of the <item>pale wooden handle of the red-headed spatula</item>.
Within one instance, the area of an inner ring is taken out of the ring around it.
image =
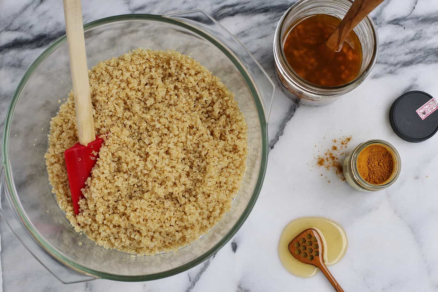
[[[65,28],[70,54],[74,105],[78,119],[79,143],[87,145],[96,139],[88,83],[87,56],[85,54],[84,26],[81,0],[64,0]]]

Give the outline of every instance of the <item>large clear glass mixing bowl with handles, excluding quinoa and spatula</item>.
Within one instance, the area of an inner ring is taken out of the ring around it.
[[[146,281],[185,271],[218,251],[257,199],[268,156],[267,120],[274,85],[244,46],[202,11],[131,14],[84,26],[88,68],[137,47],[176,49],[194,57],[235,94],[248,124],[249,155],[232,209],[198,241],[176,252],[132,256],[77,233],[51,193],[44,153],[58,100],[72,88],[66,37],[28,69],[7,111],[3,137],[1,215],[26,248],[64,283],[106,278]]]

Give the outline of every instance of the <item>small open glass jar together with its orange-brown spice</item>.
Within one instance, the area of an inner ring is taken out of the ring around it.
[[[345,180],[358,191],[388,188],[399,177],[401,160],[396,148],[384,140],[360,143],[344,160]]]

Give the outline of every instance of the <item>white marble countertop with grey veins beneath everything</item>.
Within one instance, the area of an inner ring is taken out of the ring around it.
[[[273,76],[274,30],[295,1],[82,2],[84,22],[115,14],[202,9],[236,35]],[[346,256],[330,267],[345,291],[438,291],[438,135],[421,143],[405,142],[388,121],[389,107],[402,93],[418,89],[438,96],[438,1],[386,0],[372,15],[380,53],[357,89],[319,108],[298,107],[277,91],[269,121],[268,170],[259,199],[242,228],[215,256],[157,281],[64,285],[1,221],[3,290],[332,291],[321,273],[297,278],[277,256],[279,235],[289,221],[323,216],[341,224],[348,236]],[[64,33],[62,1],[0,1],[2,128],[18,81],[49,43]],[[384,139],[396,146],[403,161],[398,181],[381,192],[360,193],[335,174],[318,169],[317,149],[329,147],[342,135],[353,136],[349,149],[368,139]]]

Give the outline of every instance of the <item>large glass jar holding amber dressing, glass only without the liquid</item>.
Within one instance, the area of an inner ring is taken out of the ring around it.
[[[359,74],[351,82],[339,86],[315,85],[295,73],[286,60],[283,42],[294,25],[314,14],[329,14],[342,19],[352,3],[350,0],[300,0],[283,14],[274,36],[274,60],[279,87],[291,100],[308,106],[327,105],[356,88],[374,67],[378,37],[369,16],[353,29],[362,46],[362,65]]]

